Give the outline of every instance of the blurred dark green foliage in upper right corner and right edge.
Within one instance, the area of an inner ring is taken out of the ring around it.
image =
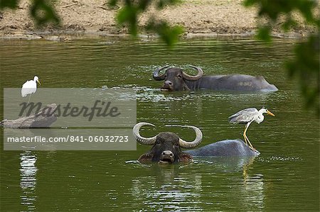
[[[281,23],[283,30],[287,31],[297,26],[293,13],[299,13],[305,23],[316,27],[317,33],[309,35],[307,40],[299,43],[294,48],[295,58],[287,62],[289,77],[298,77],[299,85],[308,108],[313,107],[320,116],[319,107],[319,30],[320,18],[314,16],[313,11],[317,8],[318,1],[312,0],[246,0],[245,6],[257,6],[258,15],[267,17],[265,26],[260,27],[257,37],[261,40],[271,40],[272,26],[279,21],[281,16],[285,21]]]

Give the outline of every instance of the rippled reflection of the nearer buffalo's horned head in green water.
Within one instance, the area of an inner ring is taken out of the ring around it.
[[[179,173],[177,165],[152,165],[154,176],[132,179],[132,195],[141,211],[201,211],[201,174]],[[191,204],[192,203],[192,204]],[[142,205],[140,205],[142,204]]]

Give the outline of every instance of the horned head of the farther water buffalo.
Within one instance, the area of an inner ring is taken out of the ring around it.
[[[169,66],[157,68],[154,71],[153,77],[157,81],[164,80],[164,84],[162,85],[161,89],[166,89],[168,91],[188,91],[189,88],[186,85],[186,80],[196,81],[203,76],[203,70],[193,65],[191,65],[190,67],[193,67],[198,71],[198,74],[196,74],[196,76],[190,76],[183,72],[183,69],[180,68],[166,69],[167,67]],[[164,74],[159,75],[159,72],[162,69],[166,69],[166,72],[164,72]]]

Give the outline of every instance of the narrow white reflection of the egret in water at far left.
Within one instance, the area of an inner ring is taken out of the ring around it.
[[[20,160],[20,187],[22,189],[21,205],[26,206],[28,211],[35,211],[36,172],[38,170],[35,163],[37,161],[37,157],[36,155],[33,155],[33,152],[25,151],[21,153]]]

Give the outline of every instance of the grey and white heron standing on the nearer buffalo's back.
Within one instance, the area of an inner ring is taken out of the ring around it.
[[[230,123],[246,124],[245,131],[243,132],[243,138],[245,138],[246,144],[249,143],[250,148],[252,150],[255,150],[255,148],[252,147],[250,140],[247,138],[247,135],[246,135],[247,128],[249,128],[250,123],[252,123],[253,121],[257,123],[262,123],[262,121],[265,119],[265,116],[263,116],[263,113],[267,113],[271,116],[274,116],[274,114],[268,111],[266,108],[261,108],[259,111],[257,110],[257,108],[247,108],[229,117]]]

